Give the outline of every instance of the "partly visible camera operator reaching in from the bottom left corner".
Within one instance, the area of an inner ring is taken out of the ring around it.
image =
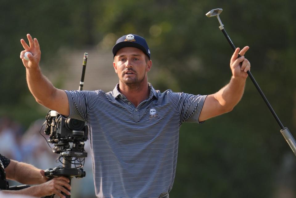
[[[56,194],[59,197],[65,197],[61,192],[70,195],[64,187],[71,189],[68,184],[70,181],[66,177],[56,177],[48,181],[48,178],[44,176],[44,171],[40,170],[30,164],[22,163],[14,160],[10,160],[0,154],[0,168],[5,170],[6,178],[18,181],[22,184],[39,184],[24,188],[21,190],[3,190],[1,195],[22,195],[42,197],[46,195]],[[0,184],[4,184],[6,178],[3,177],[3,171],[1,171]],[[1,188],[2,185],[1,185]],[[5,189],[5,188],[4,188]],[[5,196],[6,197],[6,196]]]

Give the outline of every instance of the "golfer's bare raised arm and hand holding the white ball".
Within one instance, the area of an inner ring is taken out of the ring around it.
[[[27,34],[27,38],[30,46],[27,45],[24,39],[21,39],[25,50],[21,52],[20,58],[26,67],[29,90],[39,104],[68,116],[70,114],[70,109],[66,92],[55,88],[42,74],[39,67],[41,51],[38,40],[36,38],[33,40],[30,34]],[[32,55],[28,54],[29,60],[24,59],[25,52],[32,53]]]

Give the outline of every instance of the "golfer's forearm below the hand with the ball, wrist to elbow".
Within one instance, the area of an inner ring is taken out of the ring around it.
[[[26,68],[27,83],[29,90],[35,97],[36,101],[46,107],[51,103],[52,96],[55,94],[56,88],[41,73],[38,67]]]

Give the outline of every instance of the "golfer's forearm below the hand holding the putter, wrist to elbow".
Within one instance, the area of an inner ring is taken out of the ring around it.
[[[245,78],[235,78],[232,76],[228,85],[215,93],[215,99],[225,112],[231,111],[241,100],[245,89],[245,82]]]

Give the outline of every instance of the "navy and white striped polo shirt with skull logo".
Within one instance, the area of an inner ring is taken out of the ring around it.
[[[161,93],[148,83],[149,97],[137,107],[119,92],[65,91],[69,118],[87,123],[96,196],[158,198],[171,191],[177,166],[179,129],[198,122],[206,95]]]

